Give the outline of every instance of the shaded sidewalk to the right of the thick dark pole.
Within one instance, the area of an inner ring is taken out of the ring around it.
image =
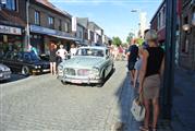
[[[175,70],[173,88],[173,131],[195,131],[195,72]]]

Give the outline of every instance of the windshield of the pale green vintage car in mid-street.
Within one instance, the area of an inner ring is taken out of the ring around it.
[[[81,48],[77,50],[76,56],[92,56],[92,57],[103,57],[102,49]]]

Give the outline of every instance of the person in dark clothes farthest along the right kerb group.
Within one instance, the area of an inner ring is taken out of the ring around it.
[[[129,47],[126,56],[127,56],[127,69],[130,71],[130,75],[131,75],[131,84],[133,85],[134,74],[135,74],[134,66],[135,66],[135,62],[137,61],[137,57],[138,57],[138,47],[136,46],[135,40],[133,40],[133,43]]]

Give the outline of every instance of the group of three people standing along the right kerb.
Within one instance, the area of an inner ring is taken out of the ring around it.
[[[143,45],[138,47],[132,43],[126,53],[131,84],[143,96],[142,102],[146,110],[144,124],[139,127],[141,131],[157,130],[160,81],[164,67],[164,50],[158,45],[157,39],[156,31],[147,29]],[[150,112],[153,112],[151,123]]]

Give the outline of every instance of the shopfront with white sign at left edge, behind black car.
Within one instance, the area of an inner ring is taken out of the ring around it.
[[[23,50],[22,27],[0,25],[0,56],[8,51]]]

